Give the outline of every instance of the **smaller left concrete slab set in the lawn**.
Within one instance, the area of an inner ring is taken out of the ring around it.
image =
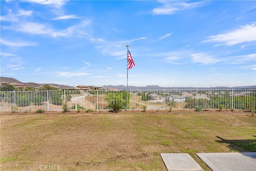
[[[168,171],[203,171],[188,153],[161,153]]]

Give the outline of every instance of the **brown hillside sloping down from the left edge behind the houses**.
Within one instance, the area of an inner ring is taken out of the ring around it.
[[[24,83],[24,82],[20,82],[19,80],[16,80],[15,78],[8,78],[8,77],[0,77],[0,82],[25,84],[26,87],[39,87],[41,85],[44,85],[44,84],[38,84],[38,83],[33,83],[33,82]],[[61,89],[73,89],[73,88],[75,88],[75,87],[69,86],[69,85],[60,85],[60,84],[50,84],[50,85],[60,86]]]

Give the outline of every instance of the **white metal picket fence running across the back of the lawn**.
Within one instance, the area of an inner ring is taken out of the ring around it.
[[[110,110],[120,102],[122,109],[256,109],[256,89],[160,89],[90,91],[0,91],[0,111]],[[126,100],[128,99],[128,100]]]

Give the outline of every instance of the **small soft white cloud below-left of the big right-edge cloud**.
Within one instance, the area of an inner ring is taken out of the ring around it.
[[[215,64],[222,61],[204,53],[191,54],[190,56],[194,63],[201,63],[203,65]]]

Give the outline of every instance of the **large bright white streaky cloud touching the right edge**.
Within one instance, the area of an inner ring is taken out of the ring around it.
[[[227,45],[232,46],[235,44],[256,41],[256,27],[255,24],[240,26],[239,29],[232,30],[225,34],[218,34],[215,36],[208,36],[208,40],[202,41],[202,43],[207,42],[220,42],[222,44],[217,44],[214,46]]]

